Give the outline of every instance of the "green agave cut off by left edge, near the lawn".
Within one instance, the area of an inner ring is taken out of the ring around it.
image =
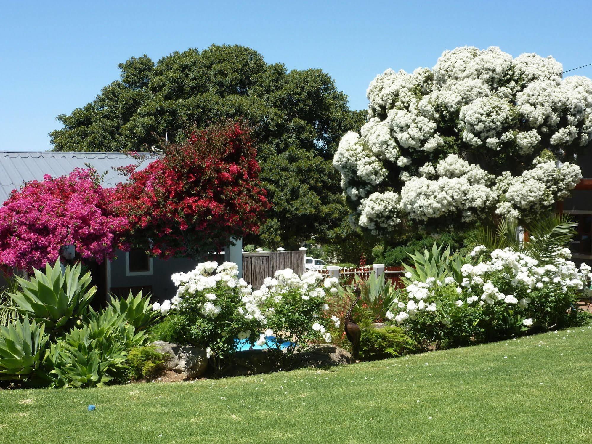
[[[0,326],[0,380],[48,379],[43,370],[49,336],[43,323],[14,321]]]

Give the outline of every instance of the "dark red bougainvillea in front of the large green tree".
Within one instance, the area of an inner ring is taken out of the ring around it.
[[[269,202],[244,124],[210,126],[163,151],[112,194],[112,208],[128,218],[135,246],[162,258],[197,257],[229,236],[258,233]]]

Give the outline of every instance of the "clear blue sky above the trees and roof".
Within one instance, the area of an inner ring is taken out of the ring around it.
[[[212,43],[243,44],[288,69],[320,67],[352,108],[388,67],[432,67],[443,50],[500,46],[592,63],[589,1],[98,1],[2,3],[0,150],[46,150],[55,117],[118,79],[117,64]],[[592,77],[592,66],[576,72]]]

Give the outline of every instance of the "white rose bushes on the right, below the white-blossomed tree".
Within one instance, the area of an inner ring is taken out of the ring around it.
[[[392,304],[389,317],[406,328],[422,348],[455,346],[577,325],[574,304],[590,282],[590,267],[578,269],[561,250],[553,263],[542,264],[510,248],[488,252],[476,247],[461,274],[422,281],[406,275],[406,288]]]

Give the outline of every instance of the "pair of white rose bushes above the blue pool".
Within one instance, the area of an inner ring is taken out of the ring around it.
[[[218,368],[239,340],[264,345],[274,337],[278,348],[289,342],[288,355],[309,340],[330,342],[325,294],[337,287],[334,279],[285,269],[253,289],[237,275],[233,262],[204,262],[188,273],[173,274],[175,297],[153,305],[167,316],[169,337],[204,348]]]

